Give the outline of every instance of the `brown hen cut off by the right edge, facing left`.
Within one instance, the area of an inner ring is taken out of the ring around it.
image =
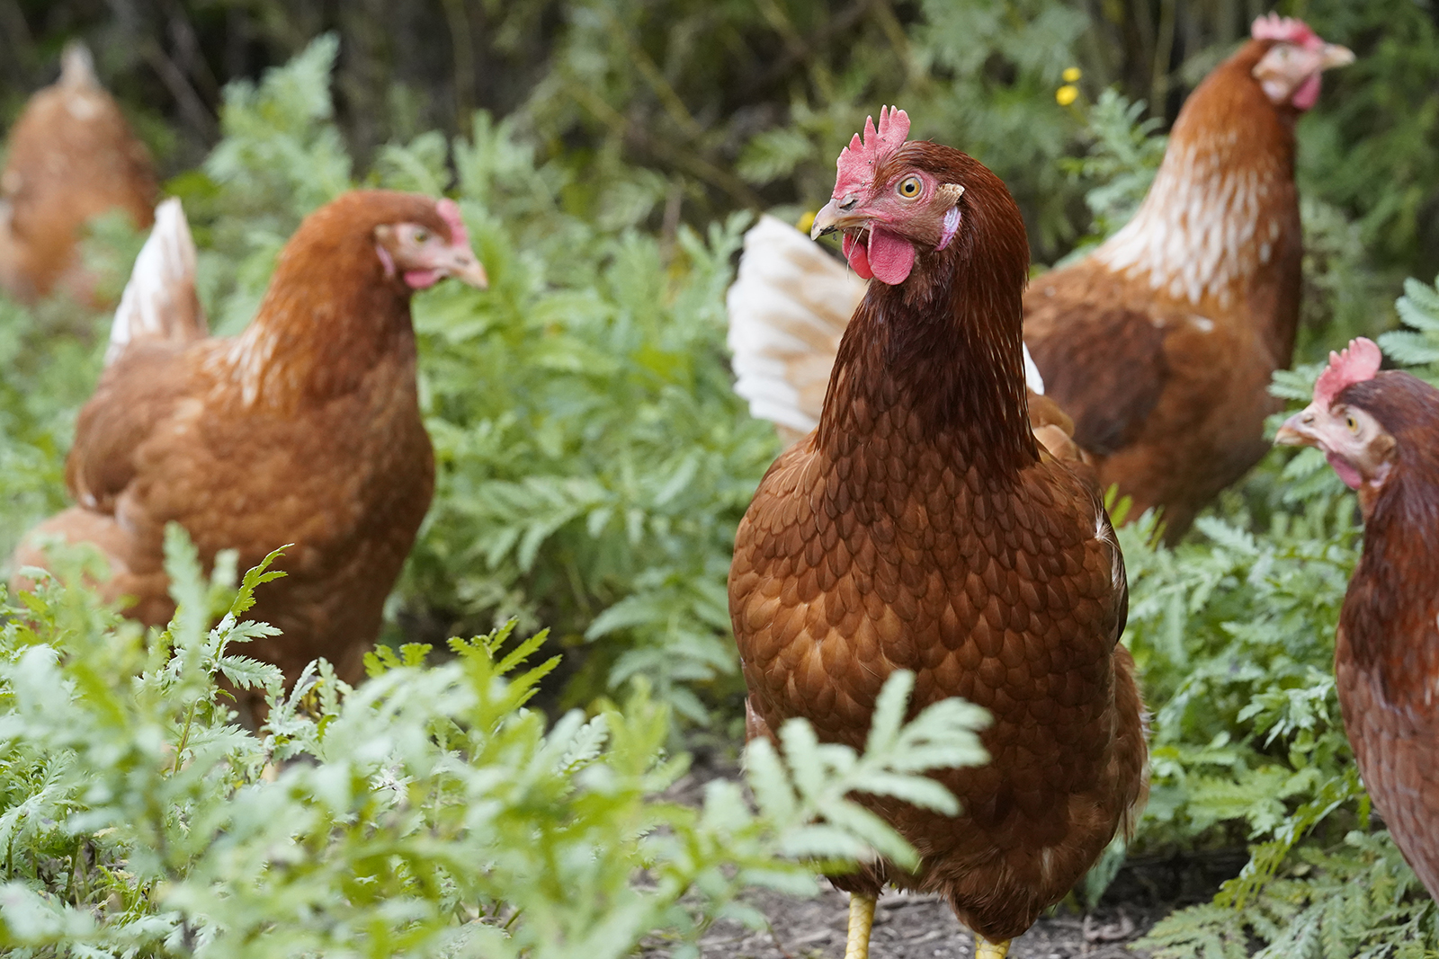
[[[1364,554],[1334,644],[1334,677],[1374,808],[1439,897],[1439,390],[1379,371],[1356,339],[1276,439],[1315,446],[1364,516]]]

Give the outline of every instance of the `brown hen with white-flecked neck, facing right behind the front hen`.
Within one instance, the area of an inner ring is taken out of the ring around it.
[[[1353,59],[1298,20],[1262,17],[1253,36],[1184,104],[1135,217],[1025,295],[1043,413],[1061,430],[1072,418],[1073,443],[1102,489],[1132,497],[1131,516],[1163,508],[1171,541],[1268,449],[1268,385],[1299,316],[1294,122],[1320,73]],[[777,226],[747,237],[731,344],[751,411],[803,431],[863,283],[837,279],[819,252],[784,250]],[[1055,430],[1042,436],[1063,454]]]

